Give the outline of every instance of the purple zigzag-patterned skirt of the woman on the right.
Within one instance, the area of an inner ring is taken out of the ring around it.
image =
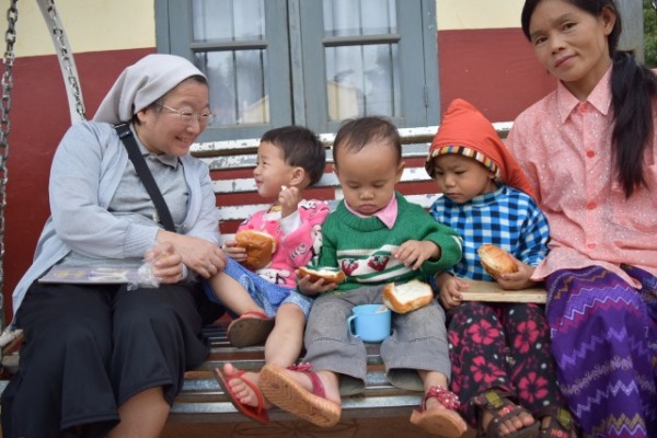
[[[546,279],[557,379],[586,437],[657,437],[657,278],[599,266]]]

